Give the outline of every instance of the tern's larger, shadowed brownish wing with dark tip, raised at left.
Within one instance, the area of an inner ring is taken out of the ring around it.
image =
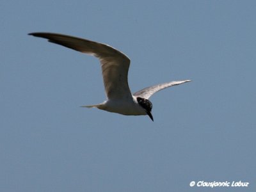
[[[60,44],[70,49],[96,56],[100,60],[108,99],[132,98],[127,81],[130,60],[122,52],[109,45],[74,36],[56,33],[29,33],[29,35],[47,38],[49,42],[54,44]]]

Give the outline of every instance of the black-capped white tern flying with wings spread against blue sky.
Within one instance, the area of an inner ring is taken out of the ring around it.
[[[154,121],[151,113],[152,103],[148,99],[164,88],[191,81],[171,81],[156,84],[132,94],[127,81],[130,59],[124,53],[109,45],[75,36],[58,33],[29,33],[28,35],[46,38],[54,44],[63,45],[99,58],[107,100],[100,104],[82,106],[85,108],[98,108],[122,115],[148,115]]]

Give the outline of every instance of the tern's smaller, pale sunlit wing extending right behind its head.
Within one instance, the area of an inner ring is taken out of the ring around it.
[[[159,92],[160,90],[163,90],[163,89],[168,88],[170,86],[186,83],[186,82],[189,82],[189,81],[191,81],[191,80],[171,81],[171,82],[168,82],[168,83],[156,84],[154,86],[149,86],[147,88],[143,88],[143,90],[140,90],[140,91],[134,93],[133,95],[137,96],[137,97],[148,99],[149,97],[151,97],[151,95],[153,95],[156,92]]]

